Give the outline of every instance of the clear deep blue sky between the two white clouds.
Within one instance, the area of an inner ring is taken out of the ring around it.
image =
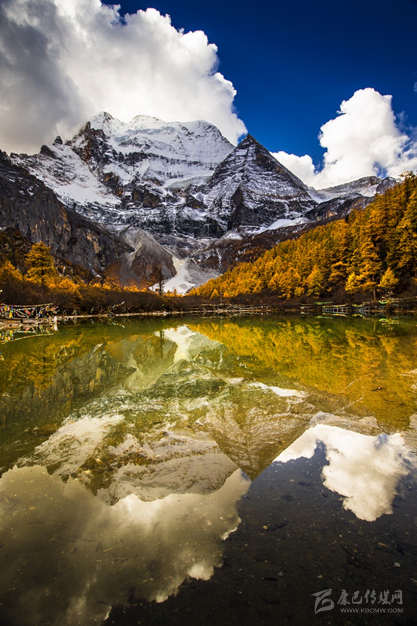
[[[415,0],[119,4],[122,13],[153,6],[178,29],[203,30],[237,91],[239,117],[271,151],[318,163],[319,128],[366,87],[392,95],[403,123],[417,126]]]

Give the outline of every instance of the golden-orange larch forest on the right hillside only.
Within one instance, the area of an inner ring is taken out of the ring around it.
[[[275,294],[291,299],[414,293],[417,287],[417,177],[378,195],[364,210],[312,228],[242,263],[191,294],[216,299]]]

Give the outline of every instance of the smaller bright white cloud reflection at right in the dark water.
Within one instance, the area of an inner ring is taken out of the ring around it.
[[[409,463],[416,463],[399,434],[369,437],[318,424],[294,441],[276,461],[309,459],[320,442],[326,446],[329,461],[323,468],[323,483],[329,490],[346,496],[345,509],[366,521],[393,512],[396,485],[408,475]]]

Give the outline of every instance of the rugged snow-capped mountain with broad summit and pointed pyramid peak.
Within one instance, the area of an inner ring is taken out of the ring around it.
[[[164,279],[177,278],[179,291],[224,270],[224,259],[233,262],[229,248],[236,240],[244,239],[247,250],[251,237],[268,232],[273,242],[271,233],[347,213],[395,182],[369,177],[317,191],[250,135],[234,147],[205,121],[139,115],[125,123],[108,113],[91,118],[66,143],[57,137],[38,155],[12,154],[8,163],[53,193],[55,204],[92,220],[90,230],[93,222],[105,227],[115,249],[125,245],[109,264],[124,284],[141,276],[149,281],[163,270]],[[12,224],[0,215],[0,227],[17,226],[39,240],[39,229],[28,230],[28,220],[21,224],[13,216]],[[48,245],[55,227],[50,220]],[[82,255],[77,259],[83,264]],[[86,265],[98,267],[90,258]]]

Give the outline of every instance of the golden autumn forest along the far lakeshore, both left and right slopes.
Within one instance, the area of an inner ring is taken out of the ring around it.
[[[364,210],[318,225],[242,262],[185,297],[122,287],[79,266],[61,267],[42,242],[16,248],[0,233],[1,300],[51,302],[68,312],[186,310],[204,300],[376,299],[417,293],[417,177],[378,195]],[[16,252],[19,250],[19,253]]]

